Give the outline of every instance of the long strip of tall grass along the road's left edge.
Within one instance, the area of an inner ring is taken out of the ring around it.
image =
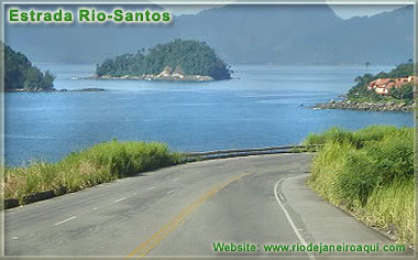
[[[76,192],[116,178],[182,162],[162,143],[110,141],[74,152],[57,163],[34,162],[28,167],[7,167],[4,198],[18,198],[53,189]]]

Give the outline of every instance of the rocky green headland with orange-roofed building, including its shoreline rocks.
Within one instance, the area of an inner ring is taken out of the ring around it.
[[[411,61],[398,65],[389,73],[364,74],[356,77],[355,83],[356,85],[343,95],[343,100],[331,99],[328,102],[315,105],[314,109],[373,111],[413,111],[415,109],[414,86],[417,77],[414,76]]]

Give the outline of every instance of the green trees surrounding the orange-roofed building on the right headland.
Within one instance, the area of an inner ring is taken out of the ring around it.
[[[414,84],[406,84],[400,88],[392,88],[389,95],[382,96],[374,90],[367,89],[367,85],[377,78],[399,78],[414,75],[414,63],[400,64],[389,73],[381,72],[376,75],[370,73],[356,77],[354,80],[356,85],[352,87],[346,97],[351,101],[394,101],[411,104],[414,101]]]

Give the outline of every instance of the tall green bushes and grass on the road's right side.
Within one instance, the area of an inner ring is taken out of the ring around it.
[[[310,134],[305,143],[323,144],[314,160],[314,191],[366,224],[395,234],[399,242],[414,242],[413,128],[332,128]]]

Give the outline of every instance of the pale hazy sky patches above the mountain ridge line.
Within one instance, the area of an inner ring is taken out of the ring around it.
[[[191,14],[197,13],[205,9],[213,8],[213,6],[170,6],[170,4],[162,4],[165,9],[169,10],[174,14]],[[352,17],[362,17],[362,15],[374,15],[377,13],[382,13],[385,11],[393,11],[395,9],[402,8],[404,6],[382,6],[382,4],[356,4],[356,6],[331,6],[334,12],[343,18],[349,19]]]

